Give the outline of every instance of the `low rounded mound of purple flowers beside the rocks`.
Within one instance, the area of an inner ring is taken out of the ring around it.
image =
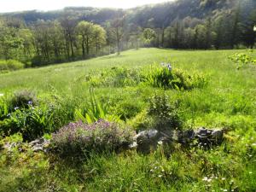
[[[59,154],[79,156],[90,152],[117,151],[132,143],[133,136],[130,128],[102,119],[90,125],[79,121],[53,134],[52,144]]]

